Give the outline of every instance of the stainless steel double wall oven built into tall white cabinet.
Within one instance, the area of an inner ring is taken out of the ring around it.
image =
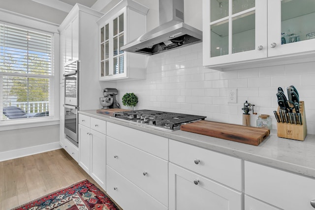
[[[78,147],[79,61],[66,65],[64,76],[64,134]]]

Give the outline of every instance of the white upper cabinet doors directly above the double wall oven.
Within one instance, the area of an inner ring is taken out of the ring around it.
[[[64,29],[65,64],[79,60],[79,16],[75,16]]]

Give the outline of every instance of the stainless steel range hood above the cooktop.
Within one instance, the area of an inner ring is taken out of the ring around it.
[[[121,47],[121,50],[154,55],[202,41],[202,31],[184,23],[184,0],[159,0],[159,25]]]

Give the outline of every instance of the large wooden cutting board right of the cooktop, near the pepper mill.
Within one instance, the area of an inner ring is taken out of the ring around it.
[[[258,146],[270,130],[258,127],[200,120],[181,125],[181,130]]]

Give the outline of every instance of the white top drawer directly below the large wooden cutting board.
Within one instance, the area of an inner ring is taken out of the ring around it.
[[[242,189],[241,159],[170,140],[169,160],[234,189]]]

